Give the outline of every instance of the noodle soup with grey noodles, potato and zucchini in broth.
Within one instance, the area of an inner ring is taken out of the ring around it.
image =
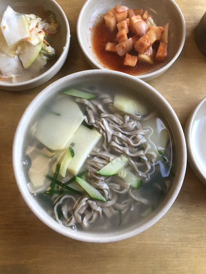
[[[154,214],[173,184],[174,161],[174,137],[155,101],[112,77],[71,81],[54,92],[35,111],[22,149],[33,199],[67,229],[95,233]]]

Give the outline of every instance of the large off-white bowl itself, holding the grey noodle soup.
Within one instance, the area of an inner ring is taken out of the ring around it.
[[[50,217],[33,199],[32,195],[28,191],[26,186],[26,178],[23,172],[23,144],[24,137],[26,136],[27,129],[31,123],[31,120],[38,109],[45,104],[50,98],[59,91],[63,91],[70,87],[75,87],[75,85],[84,86],[85,83],[92,83],[92,85],[97,83],[110,84],[111,87],[118,88],[120,86],[127,87],[136,94],[136,96],[143,96],[148,98],[148,101],[154,103],[154,107],[165,116],[171,127],[171,133],[173,134],[173,153],[175,156],[174,160],[174,170],[175,177],[173,177],[173,183],[169,192],[165,195],[165,198],[159,205],[157,209],[153,211],[149,216],[145,217],[143,221],[136,220],[135,225],[130,226],[127,229],[118,229],[118,231],[113,231],[107,233],[106,231],[101,231],[98,233],[92,233],[90,231],[74,231],[71,228],[67,228],[60,225]],[[180,125],[180,121],[175,114],[169,103],[162,97],[162,95],[154,90],[149,84],[144,81],[130,76],[126,73],[112,71],[112,70],[86,70],[77,72],[68,76],[65,76],[46,89],[41,91],[34,100],[27,107],[25,113],[23,114],[13,143],[13,167],[16,182],[19,186],[20,192],[26,201],[26,204],[33,211],[33,213],[47,226],[53,230],[76,240],[86,241],[86,242],[113,242],[134,236],[147,228],[150,228],[154,223],[156,223],[172,206],[176,197],[179,194],[186,169],[186,144],[184,139],[184,134]],[[26,225],[26,224],[25,224]]]

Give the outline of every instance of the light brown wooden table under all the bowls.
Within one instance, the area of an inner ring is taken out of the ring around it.
[[[71,29],[68,59],[52,80],[28,91],[0,90],[0,274],[205,274],[206,186],[187,166],[180,194],[151,228],[108,244],[79,242],[45,226],[26,206],[12,168],[17,124],[31,100],[67,74],[91,69],[77,42],[77,17],[85,0],[57,0]],[[195,27],[206,0],[177,0],[186,22],[186,41],[164,74],[149,81],[171,104],[184,128],[206,96],[206,56],[195,43]]]

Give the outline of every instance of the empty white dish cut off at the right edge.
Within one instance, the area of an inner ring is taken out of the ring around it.
[[[197,177],[206,184],[206,97],[190,114],[184,133],[188,162]]]

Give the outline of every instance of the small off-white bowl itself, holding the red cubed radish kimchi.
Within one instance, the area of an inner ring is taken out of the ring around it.
[[[168,56],[164,63],[151,69],[148,73],[136,75],[137,78],[149,81],[164,71],[175,62],[180,55],[185,41],[185,22],[180,8],[174,0],[87,0],[83,5],[77,21],[77,38],[83,54],[92,68],[103,68],[101,61],[92,50],[92,28],[100,21],[101,16],[116,4],[129,8],[142,8],[153,15],[154,22],[163,26],[169,23]]]

